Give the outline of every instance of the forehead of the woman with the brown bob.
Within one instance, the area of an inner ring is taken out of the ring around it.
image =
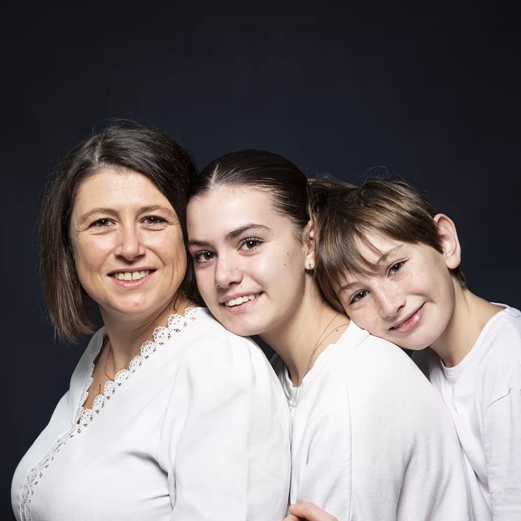
[[[93,204],[103,207],[161,204],[171,208],[165,195],[142,173],[108,168],[81,183],[73,212],[80,212]]]

